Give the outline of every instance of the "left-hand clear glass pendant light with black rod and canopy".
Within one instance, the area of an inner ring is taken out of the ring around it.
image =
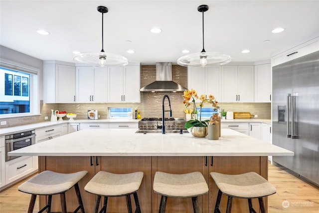
[[[74,56],[73,60],[93,66],[125,66],[129,64],[126,57],[114,53],[105,52],[103,49],[103,14],[108,12],[105,6],[98,6],[97,10],[102,13],[102,50],[100,52],[83,52]]]

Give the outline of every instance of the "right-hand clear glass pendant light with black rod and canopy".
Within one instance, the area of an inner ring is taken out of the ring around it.
[[[208,6],[203,4],[197,7],[197,10],[202,13],[203,19],[203,49],[201,52],[192,53],[181,56],[177,60],[177,64],[181,66],[214,66],[223,65],[231,61],[229,55],[220,52],[206,52],[204,48],[204,12],[208,10]]]

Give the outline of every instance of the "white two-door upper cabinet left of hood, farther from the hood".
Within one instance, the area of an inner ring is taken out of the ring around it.
[[[76,68],[76,102],[107,102],[107,67],[83,66]]]

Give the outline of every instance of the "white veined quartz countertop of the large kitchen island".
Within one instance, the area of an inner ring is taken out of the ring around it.
[[[191,134],[135,133],[138,129],[85,129],[9,152],[11,156],[293,156],[294,153],[222,129],[219,140]]]

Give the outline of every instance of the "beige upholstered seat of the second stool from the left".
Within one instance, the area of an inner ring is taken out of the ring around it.
[[[143,175],[143,172],[113,174],[100,171],[87,183],[84,190],[108,197],[131,194],[139,190]]]

